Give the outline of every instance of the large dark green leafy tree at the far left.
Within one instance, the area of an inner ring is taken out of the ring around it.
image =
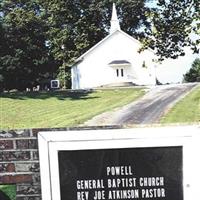
[[[4,89],[33,88],[52,77],[55,64],[46,47],[46,24],[34,1],[1,2],[0,70]]]

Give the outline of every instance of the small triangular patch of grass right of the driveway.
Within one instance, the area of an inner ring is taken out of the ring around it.
[[[178,102],[161,123],[200,122],[200,87]]]

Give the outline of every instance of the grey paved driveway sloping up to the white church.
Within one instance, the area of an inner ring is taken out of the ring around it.
[[[163,85],[149,88],[138,101],[87,121],[86,126],[158,123],[160,118],[197,84]]]

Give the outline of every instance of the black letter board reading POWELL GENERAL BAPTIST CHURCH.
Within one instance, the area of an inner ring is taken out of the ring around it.
[[[183,148],[58,151],[61,200],[183,200]]]

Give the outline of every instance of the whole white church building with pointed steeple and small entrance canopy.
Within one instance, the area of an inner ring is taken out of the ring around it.
[[[72,89],[87,89],[130,83],[155,85],[156,56],[151,49],[141,53],[141,43],[120,29],[113,4],[110,33],[81,55],[71,67]]]

